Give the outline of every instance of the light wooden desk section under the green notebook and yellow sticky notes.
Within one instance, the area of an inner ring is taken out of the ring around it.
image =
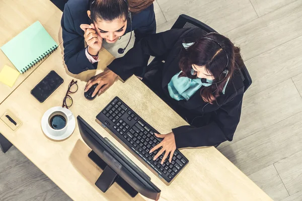
[[[58,44],[62,42],[60,26],[62,12],[49,0],[0,0],[0,5],[0,47],[36,21],[41,22],[46,31]],[[5,64],[14,67],[5,54],[0,51],[0,71]],[[41,62],[39,64],[41,64]],[[0,103],[2,103],[38,65],[31,68],[28,72],[21,74],[13,87],[0,82]]]

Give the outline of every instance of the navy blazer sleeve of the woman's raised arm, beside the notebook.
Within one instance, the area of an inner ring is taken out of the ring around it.
[[[94,64],[90,63],[85,54],[86,48],[84,37],[80,36],[75,31],[68,4],[64,7],[61,27],[64,46],[64,61],[69,72],[79,74],[89,69],[97,69],[98,62]]]

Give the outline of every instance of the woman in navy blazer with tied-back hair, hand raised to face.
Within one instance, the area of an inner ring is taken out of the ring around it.
[[[64,61],[68,70],[79,74],[96,69],[103,40],[115,43],[131,30],[136,39],[156,33],[153,2],[69,0],[61,19]]]

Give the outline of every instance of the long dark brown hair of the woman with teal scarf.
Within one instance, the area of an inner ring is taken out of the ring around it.
[[[205,37],[214,41],[205,39]],[[236,63],[239,66],[243,64],[240,48],[236,47],[225,36],[218,33],[209,33],[200,37],[186,50],[182,50],[179,66],[183,72],[179,76],[197,78],[196,74],[192,75],[191,73],[192,65],[204,66],[205,70],[214,77],[213,82],[217,83],[202,88],[200,95],[204,102],[213,104],[228,79],[232,79],[237,68]],[[228,65],[226,66],[226,64]],[[225,75],[222,73],[224,70],[229,72]]]

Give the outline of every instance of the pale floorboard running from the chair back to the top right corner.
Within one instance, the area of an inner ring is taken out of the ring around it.
[[[241,47],[247,60],[301,36],[301,24],[302,1],[295,1],[227,32],[226,36]]]

